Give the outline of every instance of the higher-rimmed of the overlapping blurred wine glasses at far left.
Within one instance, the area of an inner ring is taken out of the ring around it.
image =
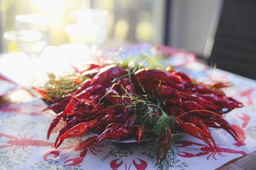
[[[38,14],[15,17],[15,37],[20,49],[31,57],[31,85],[36,81],[35,59],[44,51],[49,41],[47,17]]]

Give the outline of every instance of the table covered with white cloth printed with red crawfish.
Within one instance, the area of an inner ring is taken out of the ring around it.
[[[212,152],[198,139],[182,135],[180,143],[186,145],[179,145],[177,159],[171,160],[168,166],[172,169],[202,169],[204,165],[205,169],[215,169],[255,151],[252,138],[256,137],[256,81],[211,69],[198,62],[189,62],[177,69],[206,83],[218,80],[231,82],[232,87],[225,92],[245,106],[231,111],[225,118],[248,135],[241,133],[239,140],[234,141],[221,129],[212,129],[218,152]],[[55,149],[54,138],[61,125],[54,129],[47,141],[46,132],[52,117],[40,111],[44,108],[45,104],[36,97],[0,108],[0,169],[156,169],[154,162],[148,159],[148,148],[152,143],[122,146],[106,141],[102,145],[79,148],[88,138],[83,136],[68,139]]]

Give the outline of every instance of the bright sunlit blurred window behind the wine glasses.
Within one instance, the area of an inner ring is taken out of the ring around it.
[[[74,41],[65,27],[76,23],[76,11],[99,8],[109,11],[108,41],[163,43],[164,0],[2,0],[1,31],[15,29],[15,16],[25,13],[51,15],[51,45]],[[5,52],[19,50],[15,42],[2,38]],[[119,43],[118,43],[119,44]]]

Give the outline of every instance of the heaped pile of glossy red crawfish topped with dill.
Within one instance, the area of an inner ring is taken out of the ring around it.
[[[122,64],[87,64],[79,76],[86,80],[72,92],[49,100],[47,90],[36,89],[57,113],[47,138],[60,121],[65,122],[55,147],[67,138],[87,132],[100,134],[88,145],[104,139],[156,138],[156,159],[165,159],[173,134],[184,132],[216,148],[210,127],[224,129],[237,139],[236,129],[223,114],[243,104],[225,96],[224,83],[205,85],[172,69],[145,69]],[[52,87],[53,88],[53,87]],[[61,89],[57,89],[61,90]],[[63,91],[63,90],[62,90]]]

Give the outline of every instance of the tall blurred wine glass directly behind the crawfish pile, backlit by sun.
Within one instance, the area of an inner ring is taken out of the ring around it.
[[[78,10],[77,27],[81,41],[90,46],[90,59],[108,36],[108,11],[98,9]]]

